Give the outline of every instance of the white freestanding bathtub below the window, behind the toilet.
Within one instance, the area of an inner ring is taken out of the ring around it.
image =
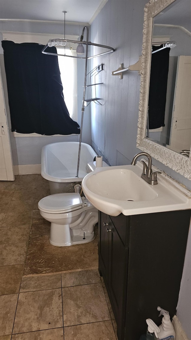
[[[51,194],[74,192],[74,185],[87,175],[86,165],[93,162],[96,152],[81,143],[79,172],[77,173],[79,142],[59,142],[42,148],[41,175],[49,181]]]

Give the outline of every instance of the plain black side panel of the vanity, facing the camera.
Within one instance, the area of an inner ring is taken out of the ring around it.
[[[190,210],[131,216],[126,340],[145,332],[146,319],[161,323],[157,306],[176,314]]]

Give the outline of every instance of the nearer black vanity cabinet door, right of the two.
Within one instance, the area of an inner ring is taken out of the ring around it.
[[[123,244],[111,219],[109,225],[108,287],[117,322],[117,336],[124,339],[129,249]]]

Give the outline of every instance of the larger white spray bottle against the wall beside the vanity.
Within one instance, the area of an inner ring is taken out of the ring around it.
[[[160,333],[159,333],[159,339],[160,340],[175,340],[175,331],[172,325],[172,322],[170,321],[169,312],[167,310],[164,310],[157,307],[157,310],[160,311],[159,317],[161,315],[164,315],[162,319],[162,324],[159,326]]]

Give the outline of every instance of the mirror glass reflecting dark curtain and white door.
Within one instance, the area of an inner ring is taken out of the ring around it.
[[[176,0],[153,19],[146,138],[189,157],[191,3]]]

